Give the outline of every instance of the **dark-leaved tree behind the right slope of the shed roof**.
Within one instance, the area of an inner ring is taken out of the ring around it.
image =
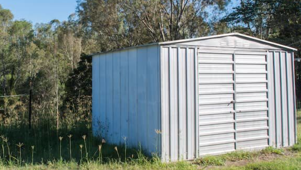
[[[223,19],[234,31],[301,48],[300,0],[241,0]],[[295,57],[300,57],[300,51]],[[301,65],[296,63],[296,91],[301,95]],[[298,99],[300,100],[300,99]]]

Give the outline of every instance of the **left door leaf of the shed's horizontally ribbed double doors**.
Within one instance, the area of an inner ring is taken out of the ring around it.
[[[220,61],[216,60],[219,56],[223,56]],[[198,58],[199,155],[232,151],[235,149],[235,119],[234,114],[230,113],[234,111],[233,54],[200,51]],[[202,87],[207,88],[202,89]]]

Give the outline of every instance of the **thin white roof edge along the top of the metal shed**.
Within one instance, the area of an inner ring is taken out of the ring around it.
[[[150,43],[150,44],[144,44],[144,45],[139,45],[139,46],[132,46],[132,47],[126,47],[126,48],[121,48],[121,49],[114,49],[114,50],[110,50],[110,51],[106,51],[106,52],[96,52],[96,53],[92,53],[90,55],[97,55],[97,54],[101,54],[101,53],[119,51],[119,50],[123,50],[123,49],[137,48],[137,47],[141,47],[141,46],[168,45],[168,44],[174,44],[174,43],[184,43],[184,42],[206,40],[206,39],[219,38],[219,37],[227,37],[227,36],[233,36],[233,35],[241,36],[241,37],[246,37],[246,38],[249,38],[251,40],[259,41],[259,42],[270,44],[270,45],[273,45],[273,46],[278,46],[278,47],[285,48],[285,49],[290,49],[290,50],[293,50],[293,51],[297,51],[298,50],[298,49],[293,48],[293,47],[281,45],[281,44],[278,44],[278,43],[273,43],[271,41],[262,40],[260,38],[256,38],[256,37],[252,37],[252,36],[248,36],[248,35],[245,35],[245,34],[240,34],[240,33],[234,32],[234,33],[219,34],[219,35],[212,35],[212,36],[206,36],[206,37],[197,37],[197,38],[189,38],[189,39],[183,39],[183,40],[172,40],[172,41],[164,41],[164,42],[159,42],[159,43]]]

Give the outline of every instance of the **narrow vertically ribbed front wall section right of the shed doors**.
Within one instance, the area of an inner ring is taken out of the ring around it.
[[[268,52],[270,136],[274,147],[296,142],[293,53]]]

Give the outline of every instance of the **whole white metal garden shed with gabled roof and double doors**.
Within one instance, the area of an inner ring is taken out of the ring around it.
[[[163,161],[293,145],[295,50],[230,33],[95,53],[93,134]]]

